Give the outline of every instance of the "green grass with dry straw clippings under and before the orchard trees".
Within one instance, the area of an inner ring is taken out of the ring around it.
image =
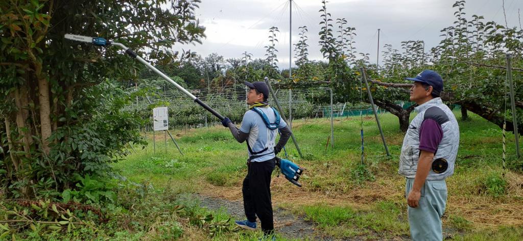
[[[454,113],[459,120],[459,111]],[[513,171],[506,171],[502,168],[502,130],[472,113],[469,117],[459,121],[460,149],[456,171],[447,179],[444,232],[456,240],[520,240],[523,176],[516,167],[521,168],[523,162],[516,159],[514,136],[507,133],[507,165]],[[300,158],[291,140],[287,151],[291,160],[305,167],[300,179],[303,187],[274,174],[274,206],[303,215],[316,225],[318,235],[371,240],[410,236],[404,178],[397,174],[404,134],[396,116],[381,114],[379,118],[391,156],[385,154],[373,116],[363,116],[363,123],[359,116],[336,118],[334,149],[330,143],[326,146],[328,119],[295,120],[293,132],[304,157]],[[177,136],[183,156],[168,136],[165,147],[161,132],[156,132],[154,152],[152,134],[148,133],[150,144],[145,149],[134,147],[127,160],[114,165],[116,170],[133,182],[151,183],[156,188],[241,198],[245,143],[237,143],[221,126],[171,132]]]

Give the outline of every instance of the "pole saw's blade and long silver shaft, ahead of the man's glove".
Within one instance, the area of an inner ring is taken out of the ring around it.
[[[224,117],[222,115],[220,115],[218,112],[214,111],[209,105],[207,105],[206,103],[203,103],[201,100],[199,100],[197,97],[195,97],[194,94],[191,94],[189,91],[187,91],[186,89],[184,89],[183,87],[178,85],[178,83],[176,83],[174,80],[170,79],[168,76],[166,76],[164,73],[162,73],[162,71],[160,71],[157,68],[155,68],[154,66],[152,66],[149,62],[145,61],[145,59],[140,57],[138,54],[134,53],[126,45],[123,45],[121,43],[111,42],[111,41],[108,41],[101,37],[93,38],[93,37],[87,37],[87,36],[82,36],[82,35],[65,34],[64,38],[74,40],[74,41],[89,43],[89,44],[93,44],[96,46],[102,46],[102,47],[109,47],[111,45],[120,47],[122,50],[124,50],[126,52],[126,54],[128,54],[132,58],[138,59],[138,61],[140,63],[147,66],[147,68],[150,68],[151,70],[153,70],[154,73],[160,75],[162,78],[164,78],[165,80],[172,83],[176,87],[176,89],[183,92],[188,97],[190,97],[192,100],[194,100],[196,103],[198,103],[201,107],[203,107],[204,109],[209,111],[214,116],[218,117],[218,119],[220,119],[220,121],[222,121],[224,119]]]

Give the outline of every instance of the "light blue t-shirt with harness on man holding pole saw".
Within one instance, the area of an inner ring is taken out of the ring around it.
[[[276,122],[276,115],[274,114],[272,108],[258,107],[258,110],[267,115],[270,123]],[[280,119],[280,125],[278,126],[278,129],[285,128],[286,126],[287,123],[285,123],[283,119]],[[245,112],[243,115],[240,131],[249,134],[247,142],[249,143],[249,146],[253,152],[259,152],[267,148],[266,151],[255,154],[259,155],[260,157],[251,160],[252,162],[263,162],[275,158],[276,155],[274,154],[274,147],[276,146],[275,140],[276,135],[278,134],[278,130],[271,130],[267,128],[263,119],[258,113],[254,112],[253,110]],[[249,153],[249,156],[253,155],[251,152],[247,152]]]

